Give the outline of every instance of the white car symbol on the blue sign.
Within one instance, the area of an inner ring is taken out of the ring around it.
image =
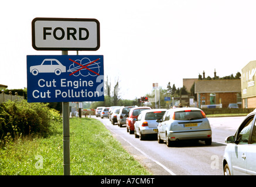
[[[37,75],[39,72],[54,72],[56,75],[60,75],[62,72],[66,72],[66,67],[59,60],[49,58],[43,60],[40,65],[32,65],[30,72],[33,75]]]

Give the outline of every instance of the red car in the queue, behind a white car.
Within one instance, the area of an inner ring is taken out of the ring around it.
[[[129,116],[126,119],[126,127],[127,127],[127,132],[130,134],[134,133],[134,123],[135,120],[138,118],[138,115],[141,113],[142,110],[148,110],[151,109],[148,106],[140,106],[140,107],[135,107],[135,108],[131,108],[131,110],[129,111]]]

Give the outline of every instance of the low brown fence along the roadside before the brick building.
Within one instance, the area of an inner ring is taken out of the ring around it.
[[[215,109],[202,109],[206,115],[217,115],[223,113],[245,113],[252,112],[255,108],[239,108],[239,109],[228,109],[228,108],[215,108]]]

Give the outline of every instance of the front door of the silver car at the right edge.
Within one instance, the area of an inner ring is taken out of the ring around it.
[[[247,150],[250,146],[248,142],[253,122],[254,115],[248,116],[237,131],[235,138],[236,142],[235,144],[233,144],[233,151],[231,151],[231,160],[234,175],[247,174]]]

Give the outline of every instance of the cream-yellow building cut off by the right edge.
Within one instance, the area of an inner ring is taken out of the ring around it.
[[[256,108],[256,86],[255,86],[256,60],[250,61],[242,69],[241,89],[243,108]]]

